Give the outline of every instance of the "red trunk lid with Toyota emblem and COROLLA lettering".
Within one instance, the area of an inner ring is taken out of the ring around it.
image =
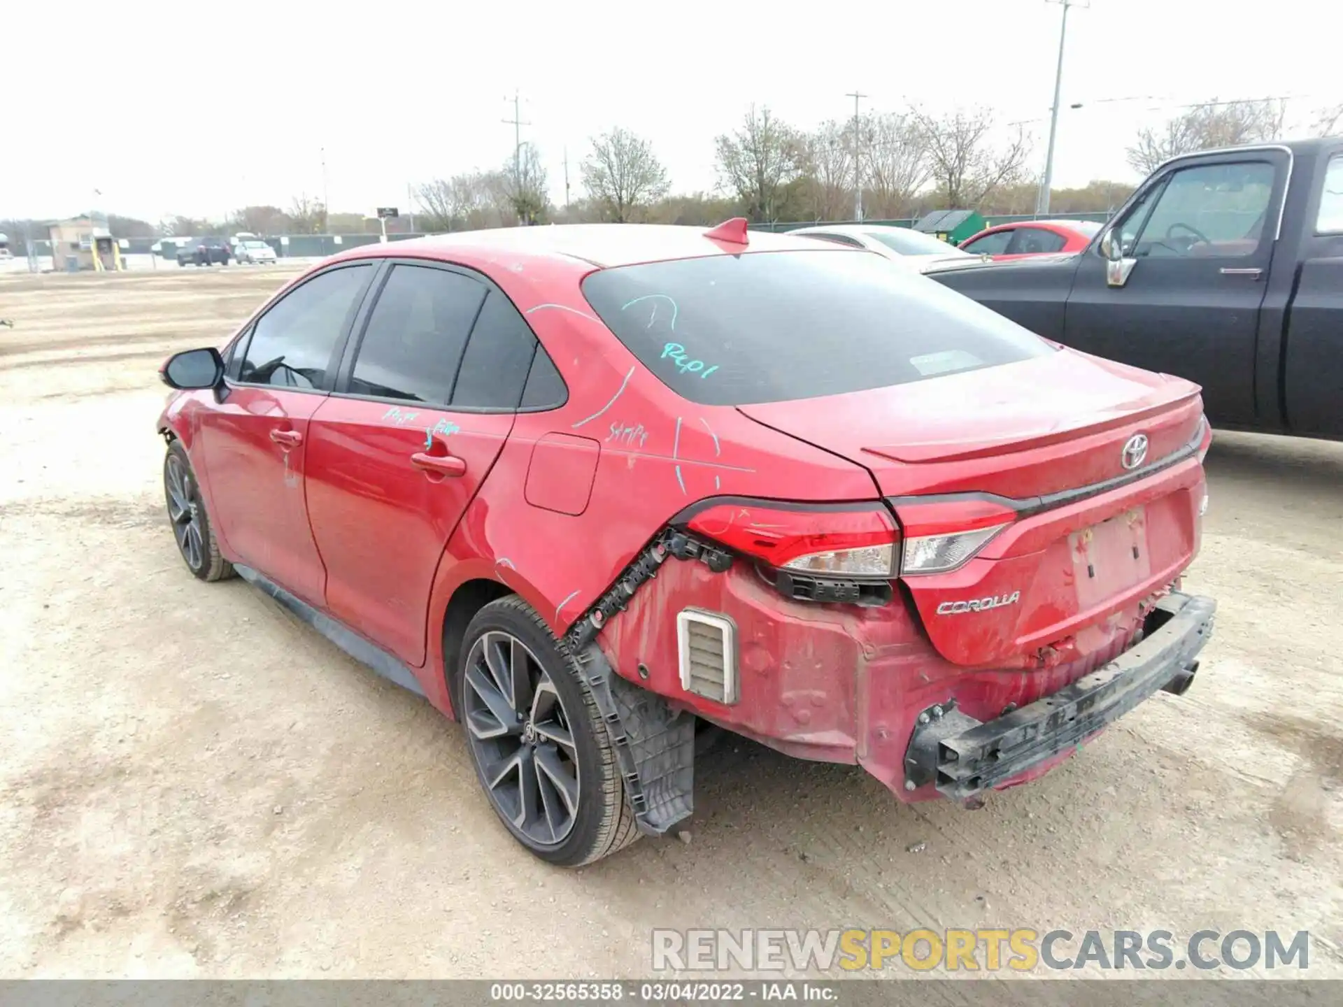
[[[901,577],[933,646],[959,665],[1048,667],[1100,653],[1132,634],[1198,550],[1203,475],[1185,448],[1203,428],[1202,401],[1180,379],[1061,349],[739,408],[865,466],[907,540],[962,520],[1006,525],[968,563]],[[1146,452],[1129,465],[1135,438]]]

